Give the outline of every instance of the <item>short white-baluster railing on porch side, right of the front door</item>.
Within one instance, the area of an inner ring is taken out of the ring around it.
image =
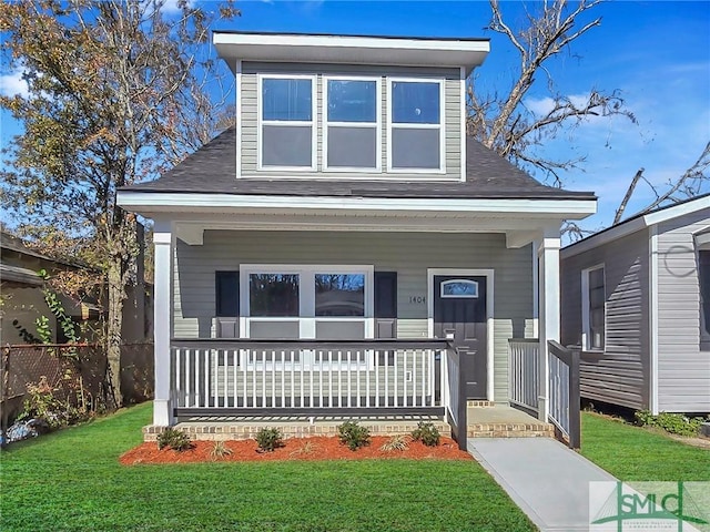
[[[539,396],[540,340],[508,341],[508,397],[514,405],[537,412]]]

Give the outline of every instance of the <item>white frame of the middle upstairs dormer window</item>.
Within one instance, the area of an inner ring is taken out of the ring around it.
[[[328,121],[328,81],[374,81],[375,82],[375,122],[329,122]],[[323,75],[323,170],[326,172],[358,172],[379,174],[382,173],[382,76],[358,76],[358,75]],[[328,127],[366,127],[376,129],[375,134],[375,167],[357,166],[328,166]]]

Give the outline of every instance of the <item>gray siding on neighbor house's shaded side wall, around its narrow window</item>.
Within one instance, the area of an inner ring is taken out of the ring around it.
[[[647,408],[649,400],[648,232],[561,260],[561,339],[581,341],[581,272],[604,264],[606,342],[604,352],[582,352],[581,396]]]

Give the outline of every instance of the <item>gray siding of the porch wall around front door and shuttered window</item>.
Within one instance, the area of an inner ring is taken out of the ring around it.
[[[427,268],[495,270],[495,400],[508,399],[508,339],[530,331],[530,246],[507,249],[504,235],[436,233],[205,231],[204,245],[178,241],[174,336],[210,337],[215,313],[214,273],[240,264],[374,265],[397,272],[399,338],[428,336]],[[414,299],[410,299],[413,296]]]

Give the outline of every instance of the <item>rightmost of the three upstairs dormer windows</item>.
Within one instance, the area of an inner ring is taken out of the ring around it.
[[[389,80],[389,170],[444,171],[444,82]]]

